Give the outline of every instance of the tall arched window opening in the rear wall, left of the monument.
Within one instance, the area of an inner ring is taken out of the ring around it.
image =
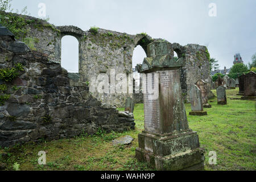
[[[69,73],[79,72],[79,42],[74,36],[61,39],[61,67]]]

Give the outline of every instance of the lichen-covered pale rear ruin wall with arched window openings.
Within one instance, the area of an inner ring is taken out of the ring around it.
[[[161,40],[152,39],[146,34],[129,35],[101,28],[98,28],[97,31],[92,29],[83,31],[75,26],[55,27],[44,20],[31,16],[4,13],[3,11],[0,11],[0,14],[7,18],[15,16],[21,18],[23,23],[20,27],[24,27],[26,34],[23,32],[16,39],[26,42],[29,47],[34,47],[36,51],[47,54],[48,59],[54,63],[61,62],[61,38],[65,35],[75,36],[79,42],[79,74],[68,75],[71,78],[71,86],[83,86],[87,83],[90,88],[94,88],[101,82],[101,80],[96,81],[100,73],[107,73],[110,84],[111,69],[115,69],[116,75],[118,73],[124,73],[127,76],[129,73],[132,74],[134,48],[140,45],[148,55],[147,45],[154,40]],[[10,25],[10,21],[7,21],[6,24]],[[15,24],[20,24],[20,21],[15,22]],[[172,47],[179,58],[183,57],[185,60],[183,68],[180,70],[181,88],[184,101],[189,102],[188,90],[197,80],[201,79],[208,82],[208,88],[210,88],[208,51],[206,47],[195,44],[180,46],[173,43]],[[117,85],[118,81],[115,84]],[[126,94],[99,93],[97,89],[94,89],[92,94],[100,101],[117,107],[124,106],[126,98],[133,95],[128,92]],[[208,96],[211,94],[210,89],[208,89]]]

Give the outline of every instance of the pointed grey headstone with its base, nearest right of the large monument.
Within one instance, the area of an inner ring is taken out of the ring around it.
[[[191,103],[191,112],[189,115],[207,115],[207,111],[203,109],[203,100],[201,97],[201,91],[197,85],[192,85],[189,93],[190,103]]]

